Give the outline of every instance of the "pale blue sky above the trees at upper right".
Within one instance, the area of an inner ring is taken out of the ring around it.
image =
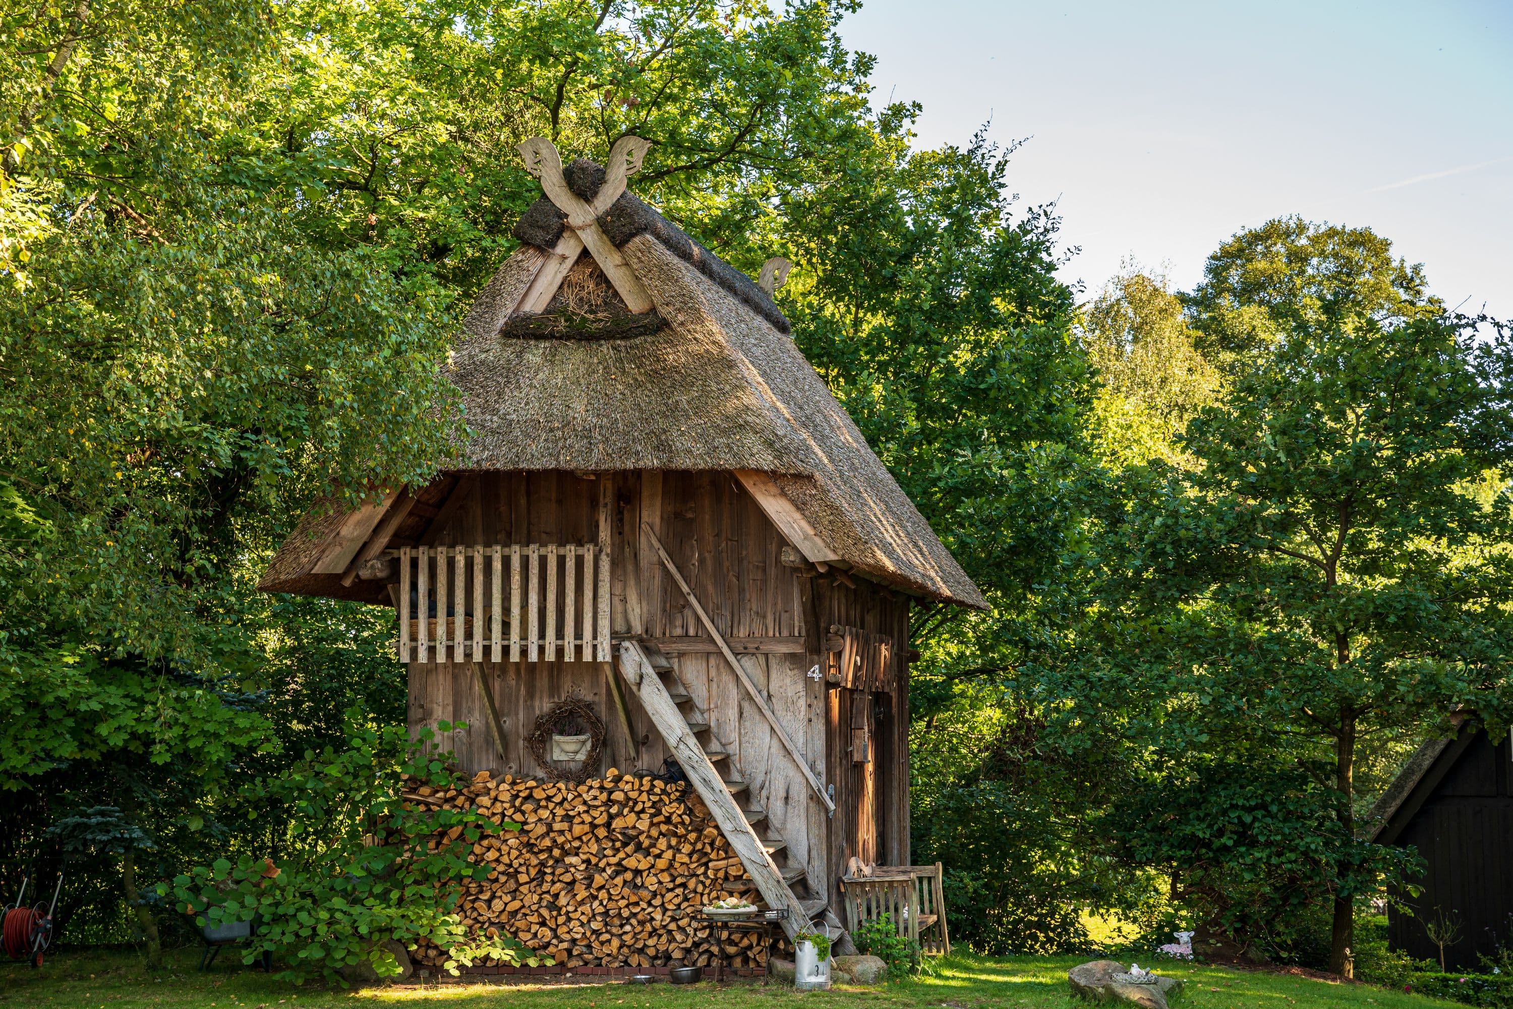
[[[920,147],[990,123],[1088,295],[1124,260],[1191,289],[1283,215],[1366,225],[1463,312],[1513,319],[1513,0],[865,0],[841,36]]]

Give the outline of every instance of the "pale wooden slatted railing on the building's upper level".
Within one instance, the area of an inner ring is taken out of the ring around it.
[[[445,663],[448,649],[451,661],[610,661],[610,558],[596,546],[405,546],[393,557],[401,663]]]

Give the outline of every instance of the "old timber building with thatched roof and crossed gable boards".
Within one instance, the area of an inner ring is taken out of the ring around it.
[[[660,906],[744,886],[790,935],[834,920],[850,859],[909,861],[911,613],[986,604],[794,346],[772,298],[787,263],[753,283],[625,192],[642,141],[608,171],[522,150],[548,198],[452,354],[463,458],[312,514],[260,587],[395,607],[410,725],[448,723],[440,746],[468,771],[593,791],[610,768],[681,767],[723,840],[696,824],[678,844],[719,876],[648,858],[660,874],[637,893]],[[598,728],[549,732],[564,705]],[[610,874],[646,855],[595,837],[551,852],[613,855]],[[516,880],[540,882],[496,885]],[[516,900],[472,905],[480,927],[522,929],[569,968],[716,956],[552,936],[499,911]]]

